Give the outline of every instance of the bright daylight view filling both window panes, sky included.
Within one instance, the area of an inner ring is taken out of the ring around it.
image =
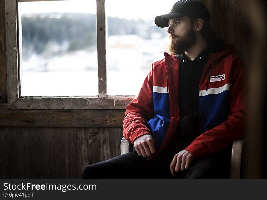
[[[167,29],[154,18],[172,5],[105,1],[108,95],[136,95],[164,58]],[[21,96],[98,95],[96,1],[20,2],[18,17]]]

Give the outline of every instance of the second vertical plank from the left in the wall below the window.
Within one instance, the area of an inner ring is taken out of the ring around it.
[[[30,178],[29,128],[9,128],[11,178]]]

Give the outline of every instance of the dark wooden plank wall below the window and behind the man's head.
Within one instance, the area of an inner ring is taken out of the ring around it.
[[[202,2],[246,61],[248,0]],[[0,178],[80,178],[83,167],[119,155],[124,110],[7,110],[4,16],[0,0]]]

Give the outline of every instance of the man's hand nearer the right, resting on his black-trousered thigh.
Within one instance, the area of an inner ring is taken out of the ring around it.
[[[193,155],[186,150],[182,150],[175,154],[173,160],[171,161],[171,174],[176,176],[175,172],[187,169],[193,160]]]

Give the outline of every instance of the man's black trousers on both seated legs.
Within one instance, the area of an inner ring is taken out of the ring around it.
[[[181,146],[180,146],[181,147]],[[174,155],[183,148],[170,146],[146,160],[136,151],[87,166],[83,178],[229,178],[231,146],[222,151],[194,159],[190,167],[176,177],[170,170]]]

